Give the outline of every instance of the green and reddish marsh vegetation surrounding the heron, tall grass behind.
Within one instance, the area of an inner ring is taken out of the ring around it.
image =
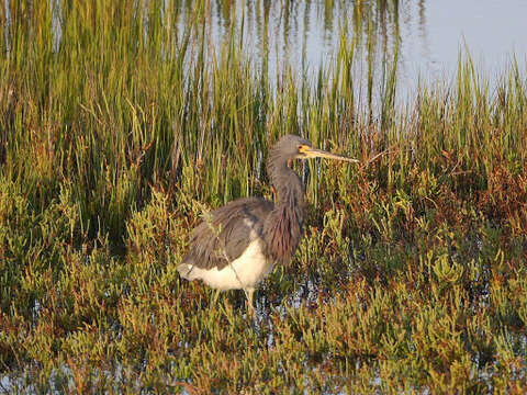
[[[396,47],[360,79],[363,43],[343,34],[316,80],[284,68],[271,81],[234,24],[210,45],[209,2],[164,4],[1,9],[5,391],[525,392],[518,64],[491,90],[460,56],[446,87],[403,104]],[[354,9],[371,50],[374,4]],[[296,166],[305,238],[251,321],[243,293],[211,308],[213,291],[176,266],[202,204],[272,198],[265,158],[287,133],[361,165]]]

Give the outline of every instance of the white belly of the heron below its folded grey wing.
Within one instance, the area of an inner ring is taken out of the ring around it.
[[[188,264],[186,264],[187,268],[181,269],[187,271],[184,278],[188,280],[202,280],[213,289],[226,291],[255,289],[271,271],[272,266],[273,263],[264,256],[260,242],[254,240],[238,259],[222,270],[217,270],[217,268],[200,269],[195,266],[190,268]]]

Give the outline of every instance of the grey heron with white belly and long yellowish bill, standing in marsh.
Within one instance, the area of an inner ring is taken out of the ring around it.
[[[253,295],[258,283],[274,264],[291,260],[302,237],[305,189],[290,166],[293,159],[310,158],[358,162],[313,148],[303,137],[283,136],[267,162],[276,203],[262,198],[238,199],[205,215],[177,267],[180,276],[201,280],[218,291],[244,290],[247,311],[254,315]]]

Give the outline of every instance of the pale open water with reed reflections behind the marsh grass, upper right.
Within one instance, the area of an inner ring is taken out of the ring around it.
[[[315,77],[336,55],[341,33],[357,40],[357,55],[363,60],[357,76],[365,77],[366,59],[373,56],[374,84],[381,78],[379,64],[394,58],[399,40],[402,94],[412,93],[419,80],[452,80],[459,55],[467,52],[490,77],[503,72],[514,57],[520,69],[527,60],[527,2],[522,0],[506,5],[491,0],[246,1],[236,10],[213,1],[211,10],[212,36],[217,43],[229,29],[228,15],[238,22],[243,18],[244,49],[255,61],[269,59],[271,79],[288,66],[303,78]],[[369,30],[373,33],[371,55]]]

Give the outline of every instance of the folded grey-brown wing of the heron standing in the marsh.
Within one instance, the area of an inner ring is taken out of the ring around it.
[[[254,238],[261,237],[264,222],[273,206],[268,200],[247,198],[209,213],[192,232],[189,251],[181,263],[188,268],[223,269]]]

